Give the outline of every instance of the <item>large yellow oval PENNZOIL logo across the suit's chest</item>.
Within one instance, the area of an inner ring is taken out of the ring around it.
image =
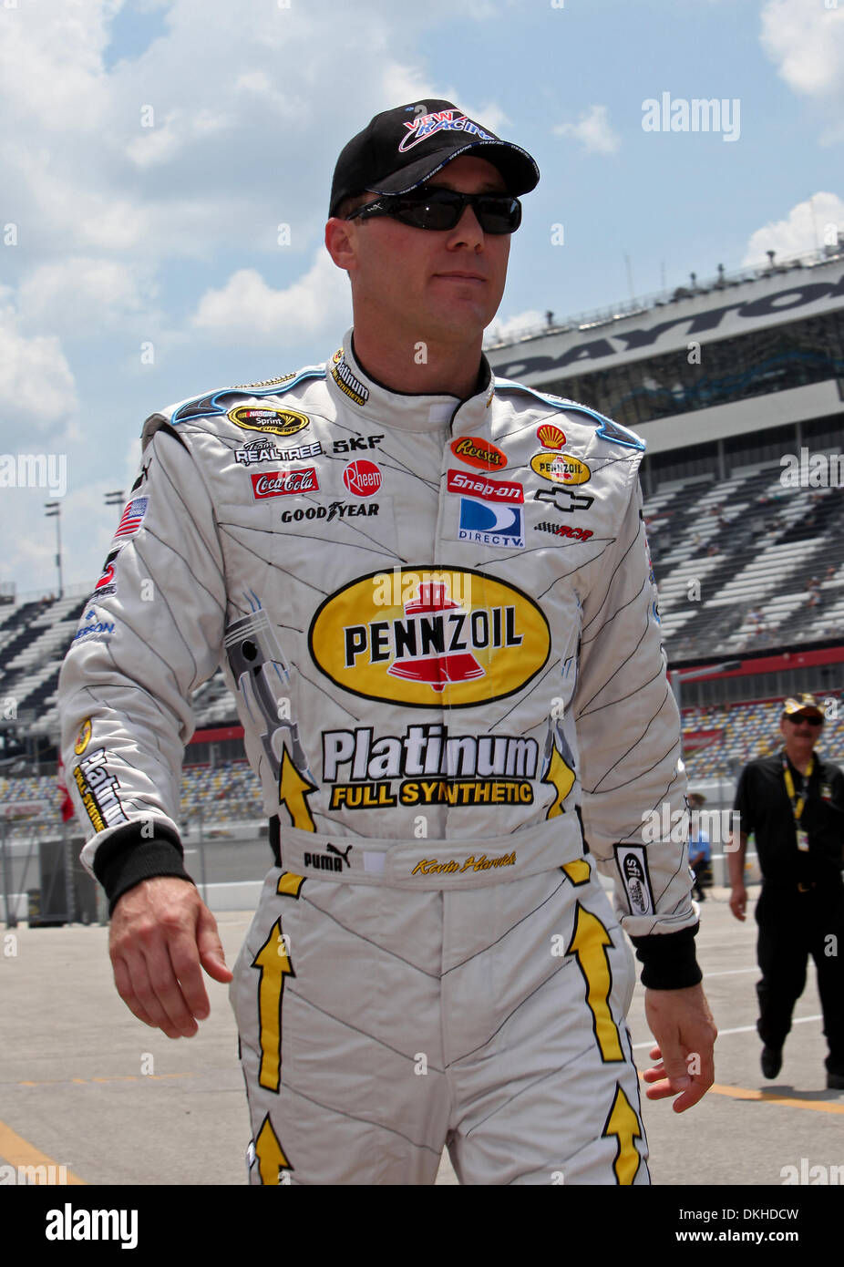
[[[469,708],[521,691],[551,635],[523,590],[468,568],[395,568],[351,582],[308,630],[317,668],[364,699]]]

